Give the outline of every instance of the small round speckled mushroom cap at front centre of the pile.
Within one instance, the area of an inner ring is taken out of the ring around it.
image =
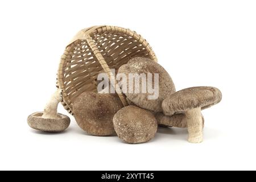
[[[118,137],[127,143],[144,143],[154,138],[158,124],[154,115],[137,106],[126,106],[113,118]]]

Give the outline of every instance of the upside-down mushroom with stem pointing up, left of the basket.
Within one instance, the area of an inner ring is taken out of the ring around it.
[[[46,132],[61,132],[67,129],[70,118],[67,115],[57,113],[57,106],[61,100],[61,90],[57,89],[43,112],[36,112],[28,116],[28,125],[32,129]]]

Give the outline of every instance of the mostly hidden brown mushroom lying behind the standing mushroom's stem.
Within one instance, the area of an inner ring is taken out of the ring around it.
[[[201,115],[204,125],[204,117]],[[184,113],[174,115],[164,115],[163,113],[156,113],[155,118],[158,121],[158,125],[162,127],[180,127],[187,128],[188,122]]]

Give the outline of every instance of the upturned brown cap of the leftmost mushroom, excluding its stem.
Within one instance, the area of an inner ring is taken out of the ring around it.
[[[32,129],[46,132],[61,132],[68,128],[70,118],[57,113],[59,118],[42,118],[43,112],[36,112],[28,116],[27,123]]]

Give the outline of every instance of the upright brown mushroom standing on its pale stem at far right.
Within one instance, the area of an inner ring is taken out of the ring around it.
[[[208,86],[198,86],[180,90],[168,96],[162,103],[165,115],[184,113],[188,126],[188,142],[203,141],[203,118],[201,110],[221,101],[219,89]]]

